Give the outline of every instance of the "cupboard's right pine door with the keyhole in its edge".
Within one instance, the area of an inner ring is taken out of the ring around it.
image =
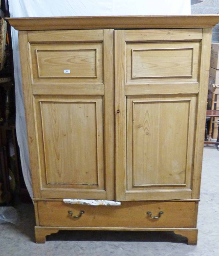
[[[117,200],[199,197],[210,32],[115,31]]]

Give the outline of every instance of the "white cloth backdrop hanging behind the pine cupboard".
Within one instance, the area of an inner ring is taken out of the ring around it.
[[[188,15],[190,0],[9,0],[10,17],[107,16],[107,15]],[[33,197],[27,132],[25,124],[18,32],[12,28],[14,58],[16,131],[21,166],[30,196]]]

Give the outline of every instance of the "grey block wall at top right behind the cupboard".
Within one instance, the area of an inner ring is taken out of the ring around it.
[[[191,14],[218,14],[219,0],[203,0],[203,2],[192,1]],[[219,42],[219,24],[213,28],[212,41]]]

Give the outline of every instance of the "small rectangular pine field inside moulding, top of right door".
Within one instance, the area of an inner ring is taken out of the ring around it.
[[[132,78],[192,76],[192,53],[193,48],[132,50]]]

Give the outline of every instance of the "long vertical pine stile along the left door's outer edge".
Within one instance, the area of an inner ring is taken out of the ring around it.
[[[27,140],[29,148],[30,168],[32,174],[32,184],[34,197],[41,197],[39,162],[36,144],[35,121],[33,111],[31,70],[30,70],[30,49],[27,31],[19,31],[20,63],[22,73],[22,86],[24,94],[24,107],[27,123]]]

